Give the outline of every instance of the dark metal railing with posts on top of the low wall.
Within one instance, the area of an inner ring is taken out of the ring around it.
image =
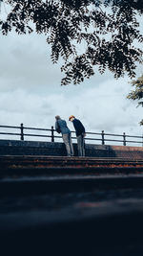
[[[5,130],[1,131],[2,129],[3,130],[5,129]],[[13,129],[16,129],[18,131],[14,132]],[[19,127],[0,126],[0,139],[2,138],[2,135],[4,136],[11,135],[12,138],[14,136],[18,136],[19,139],[22,141],[27,139],[28,137],[36,137],[36,138],[39,137],[39,138],[44,138],[46,140],[50,138],[51,142],[56,142],[59,139],[62,139],[61,134],[58,134],[53,127],[29,128],[29,127],[24,127],[23,124],[21,124]],[[72,131],[72,139],[76,139],[75,131]],[[128,135],[125,132],[123,132],[123,134],[106,133],[104,130],[102,130],[101,132],[86,132],[85,140],[89,142],[91,141],[93,143],[99,142],[102,145],[120,143],[123,146],[128,146],[129,144],[130,145],[137,144],[137,146],[143,147],[143,135],[142,136]]]

